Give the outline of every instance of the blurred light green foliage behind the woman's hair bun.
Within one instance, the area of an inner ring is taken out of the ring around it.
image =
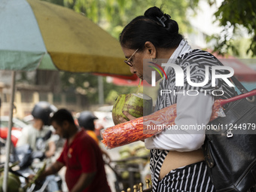
[[[173,20],[179,23],[181,32],[188,30],[189,23],[186,18],[187,8],[196,6],[187,0],[63,0],[66,7],[72,8],[84,15],[94,23],[98,23],[115,38],[118,38],[123,26],[126,26],[134,17],[144,14],[152,7],[157,6],[170,14]]]

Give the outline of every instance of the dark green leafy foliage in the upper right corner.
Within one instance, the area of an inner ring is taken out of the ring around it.
[[[234,40],[249,35],[251,42],[247,47],[247,54],[256,56],[256,1],[254,0],[224,0],[215,13],[223,30],[215,39],[215,51],[224,54],[232,50],[239,55],[239,48]]]

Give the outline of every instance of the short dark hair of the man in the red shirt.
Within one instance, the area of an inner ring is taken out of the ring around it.
[[[53,114],[53,117],[50,118],[50,123],[55,121],[58,125],[62,126],[64,121],[68,121],[70,124],[75,125],[74,118],[72,117],[71,112],[66,110],[65,108],[61,108],[56,113]]]

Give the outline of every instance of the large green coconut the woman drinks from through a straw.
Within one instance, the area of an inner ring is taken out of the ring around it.
[[[123,117],[129,120],[123,111],[128,111],[133,117],[142,117],[152,113],[152,98],[143,93],[122,94],[117,97],[112,110],[114,124],[120,122],[119,118]]]

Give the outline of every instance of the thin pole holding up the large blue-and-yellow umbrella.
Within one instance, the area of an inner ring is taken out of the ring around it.
[[[15,76],[16,72],[12,71],[11,73],[12,81],[11,81],[11,101],[10,101],[10,113],[9,113],[9,122],[8,122],[8,137],[6,141],[6,160],[5,160],[5,175],[3,181],[3,190],[7,192],[8,190],[8,171],[9,171],[9,160],[10,160],[10,149],[11,149],[11,128],[13,122],[13,105],[14,105],[14,93],[15,93]]]

